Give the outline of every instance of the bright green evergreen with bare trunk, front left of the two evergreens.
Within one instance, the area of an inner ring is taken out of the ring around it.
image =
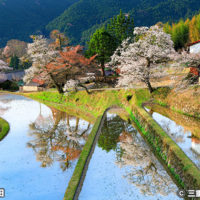
[[[110,57],[117,48],[116,39],[111,36],[105,27],[97,29],[89,42],[87,56],[97,55],[96,59],[101,64],[103,76],[105,77],[105,63],[110,61]]]

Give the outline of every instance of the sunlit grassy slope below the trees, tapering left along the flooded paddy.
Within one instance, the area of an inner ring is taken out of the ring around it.
[[[97,117],[101,116],[108,107],[113,105],[122,107],[123,101],[126,101],[129,93],[129,90],[93,91],[88,95],[85,91],[79,91],[69,96],[61,96],[56,92],[37,92],[24,93],[24,96],[95,122]],[[132,95],[133,93],[132,91]]]

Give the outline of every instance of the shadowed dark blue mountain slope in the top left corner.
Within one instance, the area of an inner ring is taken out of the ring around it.
[[[76,0],[0,0],[0,46],[10,39],[28,41],[46,33],[45,25]]]

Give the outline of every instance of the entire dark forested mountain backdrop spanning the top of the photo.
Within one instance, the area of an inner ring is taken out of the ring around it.
[[[111,17],[129,13],[136,26],[176,22],[197,14],[199,0],[0,0],[0,47],[10,39],[59,29],[71,44],[85,44]],[[46,28],[45,28],[46,26]]]

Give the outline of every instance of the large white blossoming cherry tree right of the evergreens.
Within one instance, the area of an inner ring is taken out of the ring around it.
[[[144,82],[152,92],[150,78],[159,77],[161,64],[176,54],[173,42],[158,26],[136,27],[134,35],[135,42],[123,41],[111,57],[111,64],[120,69],[118,86],[128,86],[135,79]]]

